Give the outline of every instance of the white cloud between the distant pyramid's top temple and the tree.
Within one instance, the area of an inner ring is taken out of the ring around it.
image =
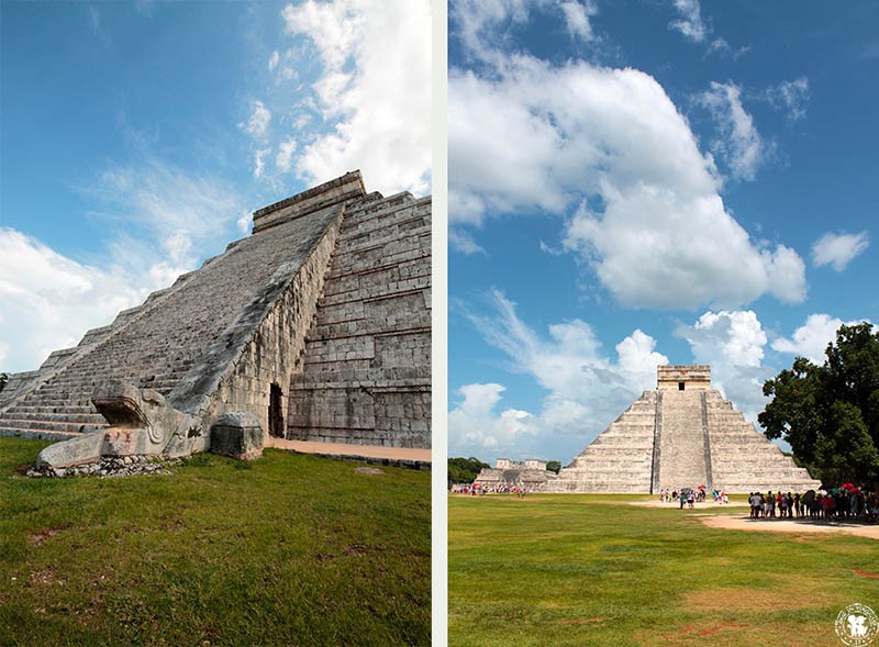
[[[768,339],[757,315],[750,310],[709,311],[677,334],[689,342],[697,364],[711,366],[712,387],[756,422],[766,405],[763,383],[776,373],[764,364]]]

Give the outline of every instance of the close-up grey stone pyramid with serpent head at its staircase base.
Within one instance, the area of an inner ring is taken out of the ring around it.
[[[266,207],[224,254],[11,376],[0,435],[66,440],[49,465],[178,456],[234,412],[279,437],[430,447],[430,198],[367,193],[359,171]]]

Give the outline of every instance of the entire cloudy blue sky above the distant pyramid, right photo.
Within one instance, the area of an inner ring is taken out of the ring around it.
[[[449,2],[449,454],[567,462],[657,364],[879,321],[879,7]]]

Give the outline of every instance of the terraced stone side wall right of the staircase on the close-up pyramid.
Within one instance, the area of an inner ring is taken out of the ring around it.
[[[293,377],[287,437],[431,446],[431,200],[352,204]]]

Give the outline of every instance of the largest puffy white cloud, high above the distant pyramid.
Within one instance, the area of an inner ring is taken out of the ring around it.
[[[579,200],[566,247],[625,305],[804,298],[795,252],[753,242],[725,210],[713,159],[653,77],[525,55],[497,72],[449,74],[453,225]]]

